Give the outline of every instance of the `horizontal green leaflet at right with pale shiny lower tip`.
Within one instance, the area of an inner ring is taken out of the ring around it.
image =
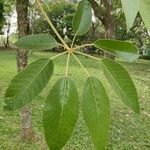
[[[94,46],[110,52],[127,61],[135,61],[138,57],[138,48],[129,42],[119,40],[97,40]]]

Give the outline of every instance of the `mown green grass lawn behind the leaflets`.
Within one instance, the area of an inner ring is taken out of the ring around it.
[[[51,57],[55,53],[34,53],[29,62],[41,57]],[[27,143],[20,140],[19,111],[3,111],[4,93],[10,80],[16,75],[15,51],[0,51],[0,150],[48,150],[42,128],[42,108],[48,91],[58,78],[64,75],[66,55],[55,59],[54,76],[46,89],[32,102],[33,126],[36,142]],[[128,109],[114,93],[106,81],[99,63],[86,57],[79,59],[87,67],[88,72],[99,78],[106,87],[111,104],[111,126],[108,150],[150,150],[150,61],[136,63],[120,62],[129,71],[137,87],[141,114],[137,115]],[[69,75],[78,87],[79,96],[87,78],[84,70],[74,58],[70,61]],[[82,113],[73,136],[63,150],[94,150]]]

